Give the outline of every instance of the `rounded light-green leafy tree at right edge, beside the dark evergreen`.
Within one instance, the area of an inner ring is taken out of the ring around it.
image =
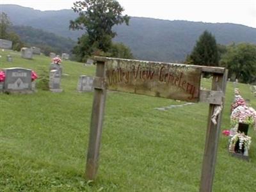
[[[227,47],[220,61],[228,68],[228,77],[239,79],[241,83],[256,82],[256,45],[232,44]]]

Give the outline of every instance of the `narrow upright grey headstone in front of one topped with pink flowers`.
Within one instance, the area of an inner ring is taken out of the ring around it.
[[[51,92],[62,92],[61,74],[59,70],[54,69],[50,71],[49,88]]]

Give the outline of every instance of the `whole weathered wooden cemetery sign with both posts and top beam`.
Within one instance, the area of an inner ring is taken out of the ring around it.
[[[94,59],[97,61],[97,68],[93,81],[94,98],[86,161],[86,178],[95,179],[99,167],[106,90],[116,90],[189,102],[209,103],[200,191],[211,191],[228,71],[221,67],[103,57],[95,57]],[[211,90],[200,90],[202,72],[212,74]]]

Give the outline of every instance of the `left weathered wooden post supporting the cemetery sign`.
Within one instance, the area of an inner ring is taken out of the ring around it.
[[[105,77],[105,65],[103,61],[97,61],[96,77],[99,77],[100,79],[104,79]],[[104,87],[103,83],[101,88],[100,86],[94,88],[92,119],[90,124],[90,138],[85,171],[86,179],[90,180],[95,179],[99,166],[99,150],[104,118],[105,101],[106,88]]]

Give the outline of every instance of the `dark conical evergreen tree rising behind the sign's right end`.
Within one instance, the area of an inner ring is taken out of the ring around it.
[[[204,31],[204,33],[199,36],[193,51],[186,58],[186,63],[218,66],[219,60],[215,37],[208,31]]]

